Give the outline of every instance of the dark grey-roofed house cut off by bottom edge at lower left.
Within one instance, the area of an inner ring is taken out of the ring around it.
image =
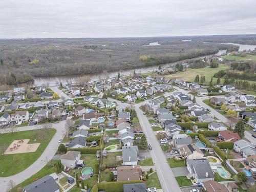
[[[27,185],[23,189],[24,192],[59,192],[59,186],[54,180],[54,178],[50,175],[42,177],[34,181],[33,183]]]

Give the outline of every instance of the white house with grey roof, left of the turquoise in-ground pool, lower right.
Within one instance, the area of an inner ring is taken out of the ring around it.
[[[188,159],[187,169],[189,176],[192,176],[196,183],[214,180],[214,172],[206,159]]]

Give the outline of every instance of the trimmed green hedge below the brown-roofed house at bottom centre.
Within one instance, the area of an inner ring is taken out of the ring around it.
[[[123,192],[123,184],[143,183],[142,180],[138,181],[116,181],[116,182],[101,182],[98,184],[99,190],[106,190],[106,192]]]

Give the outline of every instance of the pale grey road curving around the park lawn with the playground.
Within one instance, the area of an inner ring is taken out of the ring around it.
[[[33,163],[31,164],[28,168],[23,170],[22,172],[9,176],[9,177],[0,177],[0,186],[1,186],[1,191],[6,191],[8,188],[8,182],[10,180],[15,181],[15,184],[22,183],[35,173],[39,172],[39,170],[44,167],[55,155],[58,149],[58,140],[60,138],[63,138],[65,135],[65,122],[66,121],[60,121],[59,123],[54,123],[52,124],[52,127],[56,129],[56,134],[53,136],[52,140],[46,147],[45,151],[41,154],[41,156]],[[23,126],[23,127],[17,127],[18,131],[28,131],[28,130],[37,130],[37,129],[42,129],[44,128],[44,125],[34,125],[34,126]],[[0,130],[0,133],[10,133],[10,129],[3,129]]]

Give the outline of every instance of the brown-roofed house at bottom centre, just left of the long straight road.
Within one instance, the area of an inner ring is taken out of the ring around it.
[[[118,166],[117,181],[136,181],[142,179],[142,168],[139,165]]]

